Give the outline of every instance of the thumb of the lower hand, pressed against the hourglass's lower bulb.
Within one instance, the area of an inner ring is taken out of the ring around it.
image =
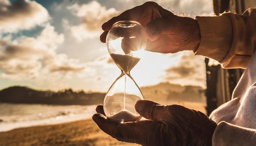
[[[151,121],[162,121],[168,114],[164,105],[148,100],[138,100],[135,109],[141,116]]]

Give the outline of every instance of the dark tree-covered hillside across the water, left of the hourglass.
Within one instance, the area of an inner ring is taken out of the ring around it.
[[[24,86],[12,86],[0,91],[0,102],[26,104],[92,105],[103,104],[105,93],[37,91]]]

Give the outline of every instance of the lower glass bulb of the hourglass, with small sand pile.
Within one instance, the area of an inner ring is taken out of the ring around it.
[[[105,115],[115,122],[136,122],[141,119],[141,115],[136,112],[135,104],[143,99],[132,78],[126,74],[120,75],[105,96],[103,110]]]

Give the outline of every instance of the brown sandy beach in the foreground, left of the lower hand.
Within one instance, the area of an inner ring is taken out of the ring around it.
[[[117,141],[92,119],[17,128],[1,132],[0,137],[0,146],[140,146]]]

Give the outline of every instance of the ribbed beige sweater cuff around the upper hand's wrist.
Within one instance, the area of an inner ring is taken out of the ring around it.
[[[197,16],[196,20],[200,27],[201,42],[195,55],[203,55],[221,62],[229,53],[233,40],[233,29],[229,17],[226,15]]]

